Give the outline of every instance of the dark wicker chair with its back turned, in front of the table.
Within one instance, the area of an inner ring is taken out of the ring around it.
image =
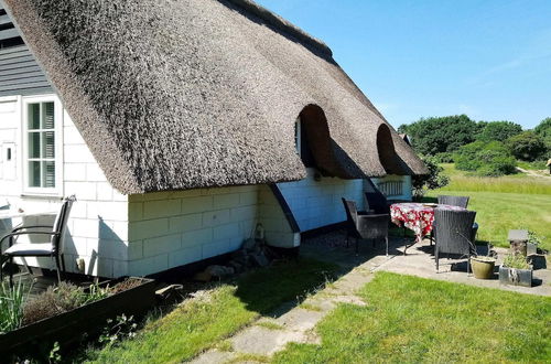
[[[434,210],[436,271],[439,271],[439,259],[442,254],[460,255],[467,257],[467,274],[469,274],[468,261],[474,251],[473,223],[476,217],[474,211],[453,211],[445,208]]]

